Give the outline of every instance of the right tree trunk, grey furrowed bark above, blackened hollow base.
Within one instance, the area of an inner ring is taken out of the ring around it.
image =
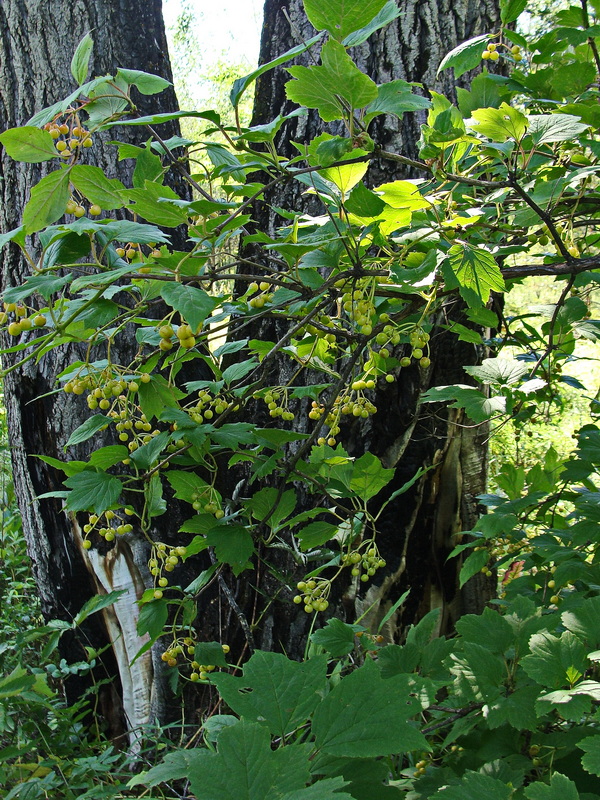
[[[398,20],[353,51],[358,66],[376,83],[401,78],[454,99],[452,71],[442,73],[437,79],[437,68],[444,55],[460,42],[499,26],[497,3],[405,0],[400,5],[402,13]],[[301,0],[266,0],[260,62],[274,59],[314,32]],[[310,66],[315,63],[314,58],[314,53],[308,52],[294,63]],[[289,77],[285,67],[279,67],[259,78],[253,124],[266,123],[277,114],[292,111],[294,105],[286,99],[284,89]],[[468,77],[465,76],[465,83]],[[402,120],[378,117],[369,133],[384,149],[416,158],[419,127],[425,120],[426,112],[406,114]],[[343,134],[340,123],[325,125],[313,112],[288,120],[278,134],[278,152],[297,155],[291,142],[308,144],[323,130]],[[366,180],[378,185],[407,177],[411,176],[406,171],[402,173],[398,165],[374,163]],[[278,225],[284,224],[273,207],[322,213],[319,201],[307,198],[304,189],[289,182],[269,192],[264,204],[255,209],[257,228],[272,234]],[[260,258],[256,250],[251,255],[254,260]],[[457,543],[455,534],[469,530],[478,516],[476,498],[486,487],[488,432],[485,427],[473,427],[462,412],[421,403],[423,392],[431,386],[468,382],[462,365],[476,364],[484,355],[483,348],[459,342],[440,327],[450,318],[466,323],[462,316],[456,301],[442,309],[431,320],[434,324],[431,366],[427,370],[417,366],[403,369],[394,384],[376,390],[373,401],[378,413],[374,417],[358,421],[351,418],[342,427],[341,441],[352,456],[359,457],[370,450],[381,458],[384,466],[396,468],[395,479],[386,489],[390,493],[412,478],[419,468],[428,468],[426,476],[390,504],[380,519],[378,545],[387,561],[388,566],[382,570],[387,577],[376,576],[373,584],[367,584],[366,592],[364,588],[357,591],[356,586],[347,585],[331,604],[332,613],[348,622],[366,612],[363,622],[376,628],[396,599],[410,589],[403,608],[386,625],[385,633],[391,641],[401,640],[407,626],[432,608],[442,610],[439,631],[449,631],[460,614],[480,611],[493,595],[492,583],[482,576],[473,579],[461,592],[460,563],[456,559],[452,563],[446,561]],[[252,336],[278,341],[283,333],[281,324],[266,322]],[[247,330],[244,335],[249,335]],[[398,358],[407,354],[401,348],[395,353]],[[290,378],[288,372],[289,366],[280,361],[272,380],[285,385]],[[320,380],[318,376],[315,379]],[[298,430],[309,430],[303,416],[306,413],[297,415],[294,425]],[[280,568],[285,561],[283,555],[276,559]],[[289,559],[286,566],[289,569]],[[297,574],[298,578],[303,577],[300,572]],[[262,600],[254,618],[264,613],[257,631],[257,646],[282,649],[288,655],[301,657],[310,618],[299,614],[298,607],[289,602],[290,592],[279,593],[270,605],[264,602],[265,597],[273,597],[277,592],[268,573],[260,586]]]

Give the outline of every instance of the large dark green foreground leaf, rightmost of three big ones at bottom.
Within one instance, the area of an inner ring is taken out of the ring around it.
[[[406,721],[420,708],[411,697],[409,676],[383,680],[377,665],[366,661],[317,707],[315,744],[324,753],[350,758],[429,750],[425,737]]]

